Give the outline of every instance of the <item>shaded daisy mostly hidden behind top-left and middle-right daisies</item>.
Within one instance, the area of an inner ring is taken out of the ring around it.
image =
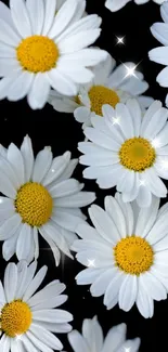
[[[49,103],[57,112],[74,113],[78,122],[91,126],[91,117],[102,116],[103,104],[115,107],[118,102],[126,103],[128,97],[135,96],[143,109],[150,106],[153,99],[141,95],[148,89],[143,75],[135,70],[133,63],[125,63],[116,67],[115,60],[108,54],[107,60],[92,69],[94,78],[91,83],[80,87],[77,96],[67,97],[51,90]]]

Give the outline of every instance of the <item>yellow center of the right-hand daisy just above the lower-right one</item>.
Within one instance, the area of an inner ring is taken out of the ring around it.
[[[153,166],[156,153],[147,140],[133,138],[121,145],[119,158],[120,164],[127,169],[142,172]]]

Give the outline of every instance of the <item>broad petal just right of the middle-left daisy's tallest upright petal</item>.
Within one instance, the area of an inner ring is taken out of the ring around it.
[[[43,151],[39,152],[33,171],[33,181],[41,183],[42,179],[49,171],[52,162],[52,152],[50,146],[46,146]]]

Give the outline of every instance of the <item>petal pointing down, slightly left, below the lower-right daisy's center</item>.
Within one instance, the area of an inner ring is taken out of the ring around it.
[[[128,312],[135,302],[138,292],[138,278],[127,275],[119,290],[119,308]]]

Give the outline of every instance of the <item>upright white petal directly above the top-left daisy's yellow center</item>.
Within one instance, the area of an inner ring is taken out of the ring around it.
[[[33,34],[41,35],[44,18],[43,0],[27,0],[26,8],[28,10]]]

